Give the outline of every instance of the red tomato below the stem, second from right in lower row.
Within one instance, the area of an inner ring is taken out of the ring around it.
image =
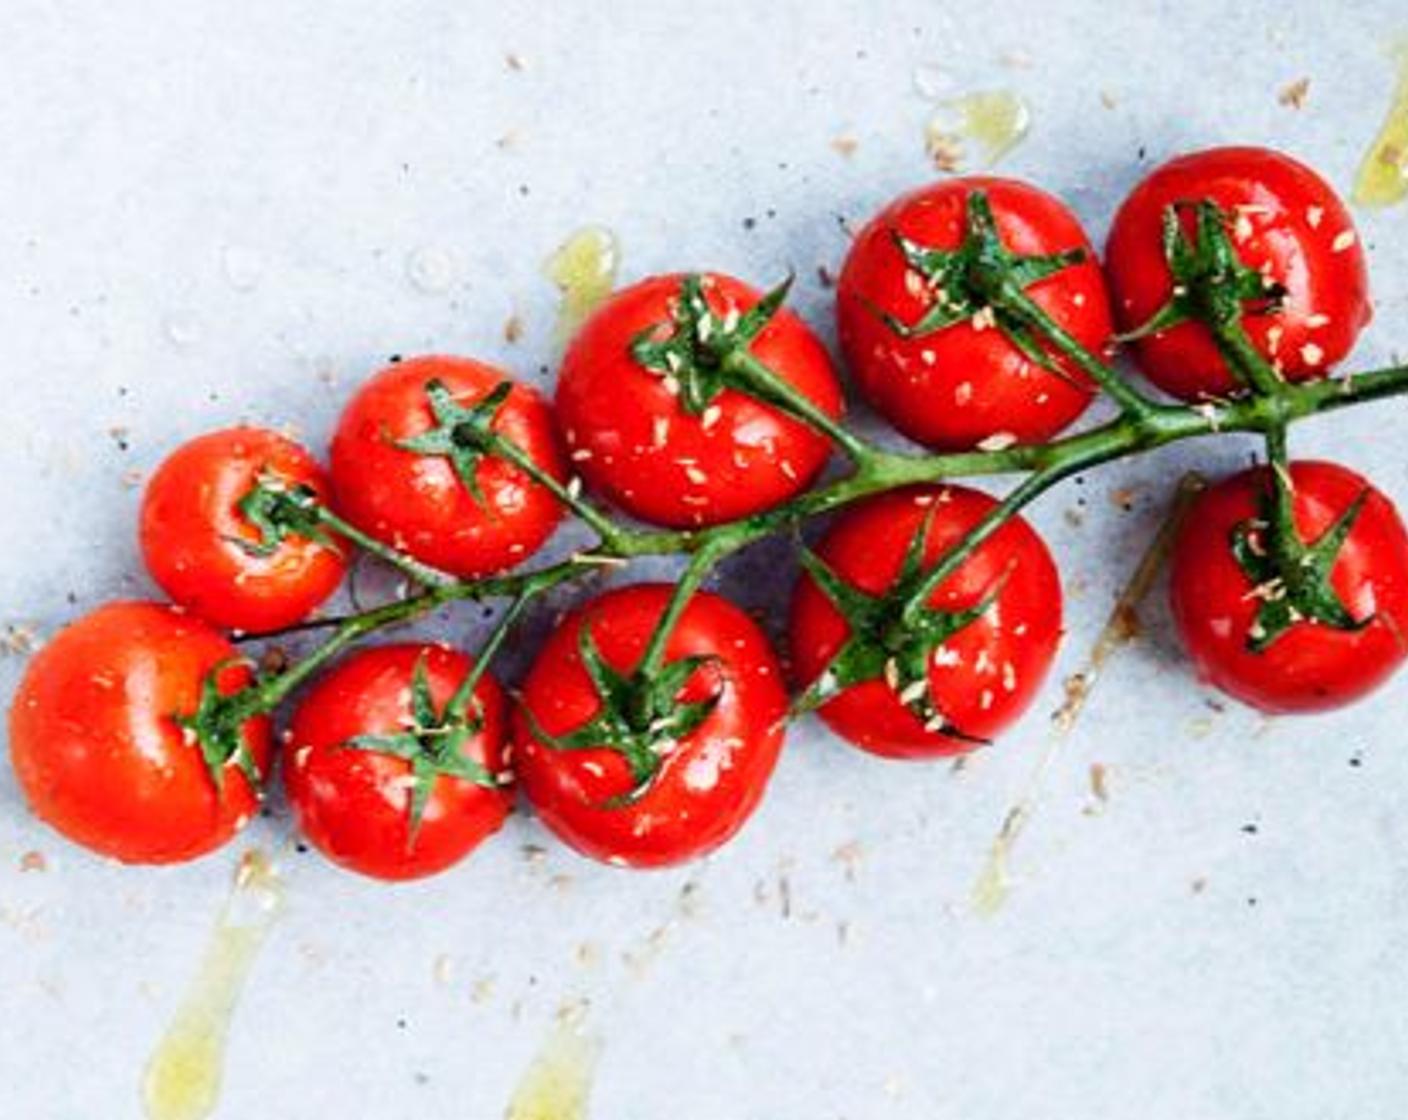
[[[976,613],[938,644],[895,626],[907,554],[928,523],[915,572],[931,569],[994,500],[962,486],[893,490],[845,510],[817,548],[873,617],[855,630],[811,573],[791,604],[798,682],[814,685],[850,642],[870,672],[819,709],[842,738],[888,758],[963,754],[991,740],[1031,703],[1062,634],[1060,578],[1042,538],[1021,517],[981,544],[928,600],[931,610]],[[979,610],[983,607],[981,610]],[[950,630],[938,620],[939,630]],[[838,682],[841,683],[841,682]]]

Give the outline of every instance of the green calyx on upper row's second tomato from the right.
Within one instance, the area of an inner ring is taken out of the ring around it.
[[[935,249],[890,231],[905,263],[922,280],[931,299],[929,310],[915,323],[872,306],[884,324],[901,338],[924,338],[959,323],[1001,331],[1028,361],[1066,376],[1042,341],[1029,314],[1026,289],[1063,269],[1086,261],[1081,248],[1045,255],[1021,255],[1007,248],[993,217],[993,204],[983,190],[967,197],[967,231],[956,249]]]

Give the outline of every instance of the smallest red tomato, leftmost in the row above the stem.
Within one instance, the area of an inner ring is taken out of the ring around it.
[[[227,428],[183,444],[152,475],[142,500],[142,556],[152,579],[206,621],[251,633],[301,621],[346,571],[334,537],[272,524],[265,533],[241,511],[260,479],[327,500],[313,456],[265,428]]]

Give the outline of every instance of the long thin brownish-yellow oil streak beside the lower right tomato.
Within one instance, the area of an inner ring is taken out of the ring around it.
[[[973,883],[970,904],[977,914],[991,917],[1007,902],[1012,889],[1012,879],[1008,873],[1012,848],[1017,845],[1017,840],[1021,837],[1026,823],[1036,811],[1036,804],[1046,789],[1046,776],[1060,755],[1062,747],[1070,738],[1070,733],[1076,730],[1076,721],[1080,718],[1080,713],[1086,710],[1086,702],[1090,699],[1090,693],[1110,664],[1110,659],[1139,634],[1139,607],[1149,597],[1149,592],[1159,578],[1164,561],[1169,558],[1178,530],[1183,527],[1183,521],[1188,516],[1188,509],[1193,506],[1193,499],[1202,492],[1205,485],[1198,475],[1184,475],[1178,483],[1173,509],[1169,511],[1169,516],[1164,518],[1163,525],[1143,556],[1140,556],[1139,565],[1119,593],[1119,599],[1115,600],[1115,606],[1110,611],[1110,617],[1105,620],[1095,645],[1086,658],[1086,664],[1080,672],[1066,679],[1066,700],[1052,713],[1052,733],[1048,738],[1046,749],[1042,752],[1042,758],[1028,782],[1026,793],[1017,804],[1007,810],[1002,827],[997,830],[993,845],[988,848],[987,862]]]

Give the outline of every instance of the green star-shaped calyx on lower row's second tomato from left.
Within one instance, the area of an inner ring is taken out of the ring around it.
[[[465,745],[484,726],[483,713],[474,702],[479,672],[472,671],[444,709],[435,706],[429,673],[422,652],[411,675],[411,724],[403,731],[353,735],[342,744],[345,749],[372,751],[406,759],[411,765],[410,833],[407,845],[415,842],[425,806],[435,790],[438,778],[459,778],[486,789],[500,789],[505,782],[483,764],[465,754]],[[476,664],[477,669],[477,664]]]

